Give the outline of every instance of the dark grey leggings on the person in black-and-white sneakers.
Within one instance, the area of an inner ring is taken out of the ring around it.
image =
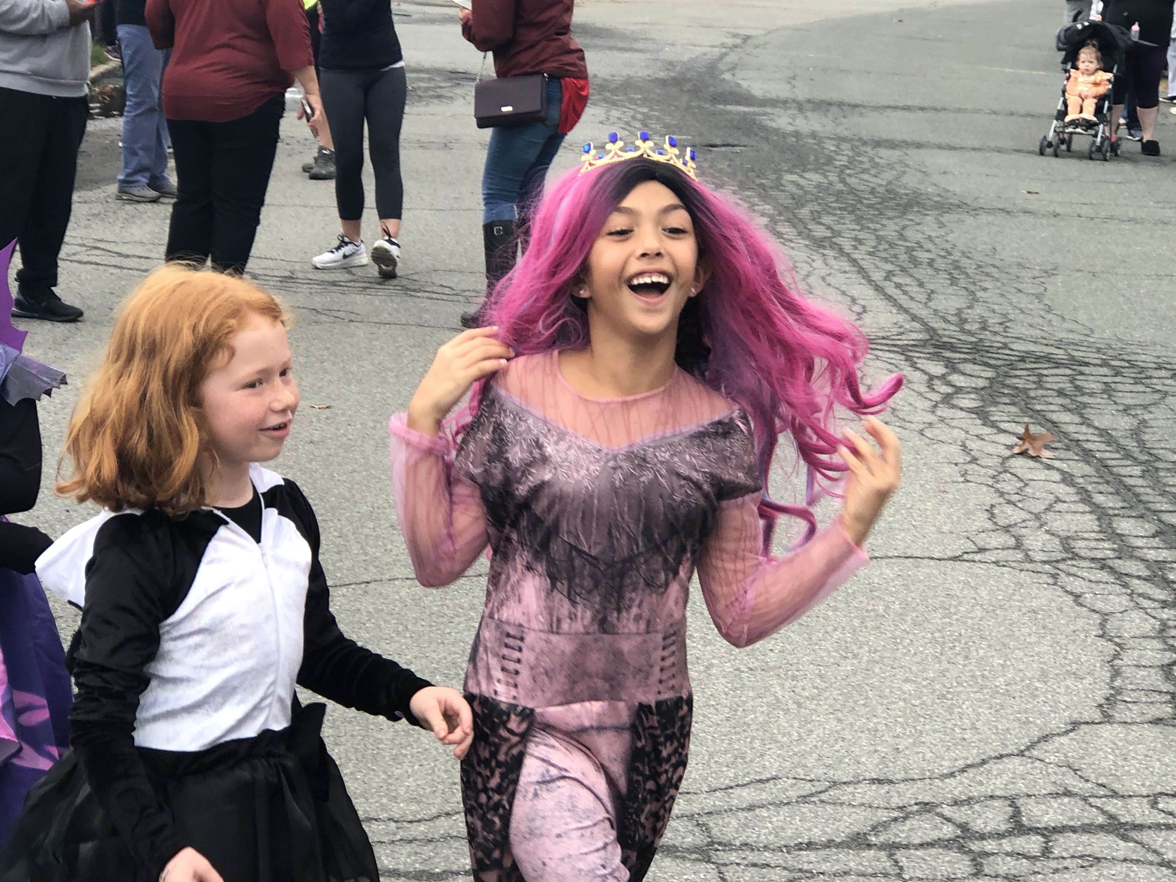
[[[365,118],[375,172],[376,211],[381,219],[400,220],[405,208],[405,185],[400,178],[400,123],[408,94],[405,68],[325,69],[319,86],[335,142],[335,202],[340,220],[363,216]]]

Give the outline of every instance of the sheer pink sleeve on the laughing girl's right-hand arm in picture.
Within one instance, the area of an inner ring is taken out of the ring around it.
[[[699,559],[710,617],[737,647],[796,621],[869,562],[837,521],[787,557],[763,556],[759,500],[751,494],[727,503]]]

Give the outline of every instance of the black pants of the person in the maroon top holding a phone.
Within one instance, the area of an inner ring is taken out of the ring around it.
[[[166,260],[212,260],[245,272],[266,203],[286,96],[229,122],[168,120],[180,191],[172,207]]]

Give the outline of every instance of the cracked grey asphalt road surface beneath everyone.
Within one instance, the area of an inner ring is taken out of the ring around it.
[[[1040,158],[1062,6],[577,7],[593,99],[559,166],[610,128],[697,145],[704,180],[867,330],[869,376],[908,383],[888,417],[906,481],[874,564],[746,650],[691,609],[691,764],[654,882],[1176,880],[1176,116],[1161,113],[1157,160],[1130,143],[1108,163]],[[299,316],[303,408],[278,468],[315,503],[345,629],[459,684],[485,567],[415,583],[385,423],[476,295],[479,56],[449,4],[394,9],[412,88],[402,278],[309,267],[334,199],[299,173],[312,141],[292,118],[250,272]],[[49,461],[166,236],[166,206],[113,201],[116,141],[114,122],[87,135],[62,255],[86,321],[29,336],[72,377],[41,407]],[[1027,421],[1058,435],[1055,459],[1010,455]],[[59,534],[89,512],[49,479],[26,520]],[[327,734],[383,877],[467,875],[456,763],[340,708]]]

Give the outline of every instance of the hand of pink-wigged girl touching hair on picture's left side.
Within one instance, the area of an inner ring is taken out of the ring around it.
[[[441,421],[469,387],[514,358],[514,349],[495,339],[497,330],[496,327],[466,330],[437,349],[433,367],[408,402],[408,428],[426,435],[437,434]]]

